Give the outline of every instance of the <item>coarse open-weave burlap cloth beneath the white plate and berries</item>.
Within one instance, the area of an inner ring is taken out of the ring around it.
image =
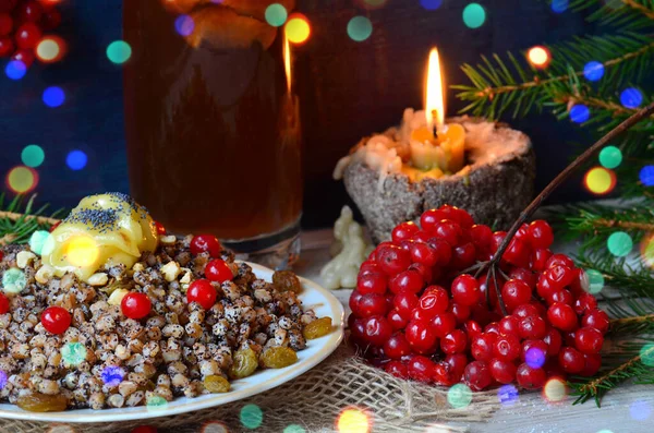
[[[148,424],[160,433],[218,433],[211,421],[222,422],[229,432],[252,432],[240,421],[241,408],[254,404],[263,410],[256,432],[282,433],[296,424],[307,433],[336,431],[339,414],[348,407],[364,409],[371,416],[373,432],[457,432],[463,428],[437,429],[439,422],[484,421],[499,407],[497,392],[475,393],[470,406],[452,408],[447,388],[398,380],[353,357],[351,349],[339,349],[302,376],[246,400],[174,417],[142,422],[97,424],[52,424],[0,420],[2,433],[122,433]],[[216,425],[216,424],[213,424]],[[203,430],[203,428],[206,428]],[[225,430],[223,430],[225,431]]]

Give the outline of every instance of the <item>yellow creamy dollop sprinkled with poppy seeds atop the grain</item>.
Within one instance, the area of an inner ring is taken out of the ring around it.
[[[146,251],[155,251],[158,236],[148,212],[121,193],[89,195],[52,231],[43,263],[55,275],[74,273],[82,280],[102,265],[131,268]]]

